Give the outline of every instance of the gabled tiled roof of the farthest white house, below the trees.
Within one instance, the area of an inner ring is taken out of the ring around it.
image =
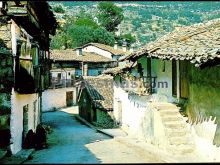
[[[114,55],[125,55],[125,54],[128,53],[128,51],[127,51],[127,52],[124,52],[124,51],[123,51],[122,49],[120,49],[120,48],[114,49],[113,47],[111,47],[111,46],[109,46],[109,45],[100,44],[100,43],[88,43],[88,44],[82,46],[82,48],[87,47],[87,46],[89,46],[89,45],[96,46],[96,47],[98,47],[98,48],[100,48],[100,49],[103,49],[103,50],[106,50],[106,51],[108,51],[108,52],[111,52],[111,53],[114,54]]]

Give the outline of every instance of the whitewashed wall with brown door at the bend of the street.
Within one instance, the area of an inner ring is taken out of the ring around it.
[[[66,107],[66,92],[73,91],[73,104],[76,104],[76,87],[47,89],[42,94],[42,111]]]

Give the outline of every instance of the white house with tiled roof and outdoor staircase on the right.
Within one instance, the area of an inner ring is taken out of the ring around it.
[[[114,112],[122,128],[173,154],[218,159],[219,24],[215,19],[178,28],[121,58],[138,64],[128,75],[112,73],[115,81],[141,78],[146,88],[134,94],[115,86]]]

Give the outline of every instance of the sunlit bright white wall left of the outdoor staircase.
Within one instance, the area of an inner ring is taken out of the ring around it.
[[[148,108],[148,99],[148,96],[129,96],[122,88],[114,85],[114,117],[119,121],[118,101],[121,101],[122,129],[131,136],[147,138],[153,135],[153,116]]]

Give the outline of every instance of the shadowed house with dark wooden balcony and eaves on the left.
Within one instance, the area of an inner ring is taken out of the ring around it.
[[[49,85],[49,34],[57,24],[47,2],[3,1],[0,14],[0,143],[16,154],[27,132],[41,122],[41,94]]]

